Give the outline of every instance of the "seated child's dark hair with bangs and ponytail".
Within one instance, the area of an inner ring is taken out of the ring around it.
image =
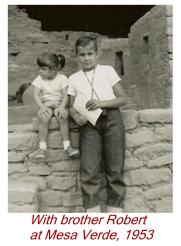
[[[37,64],[39,67],[49,68],[59,68],[61,66],[62,69],[65,66],[65,57],[61,54],[46,52],[37,58]]]

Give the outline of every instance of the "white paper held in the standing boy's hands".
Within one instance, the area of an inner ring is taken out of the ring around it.
[[[85,116],[87,118],[87,120],[93,124],[95,126],[99,116],[101,115],[102,113],[102,109],[98,108],[98,109],[95,109],[93,111],[89,111],[86,109],[86,103],[88,102],[89,100],[79,94],[76,96],[75,98],[75,101],[74,101],[74,104],[73,104],[73,107],[74,109],[79,112],[79,114],[82,114],[83,116]]]

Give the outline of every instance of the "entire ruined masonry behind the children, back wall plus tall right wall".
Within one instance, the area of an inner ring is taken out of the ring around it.
[[[74,44],[82,35],[93,34],[101,40],[101,64],[115,67],[122,78],[131,108],[169,108],[172,105],[173,33],[172,6],[157,5],[131,26],[128,38],[108,38],[88,32],[47,32],[40,21],[30,19],[26,12],[9,6],[9,94],[20,85],[31,83],[37,75],[37,56],[47,50],[63,53],[67,76],[77,71]],[[118,17],[119,21],[119,17]],[[68,37],[68,40],[66,39]],[[122,57],[120,57],[122,54]],[[121,72],[121,66],[124,73]],[[26,105],[33,104],[29,93]]]

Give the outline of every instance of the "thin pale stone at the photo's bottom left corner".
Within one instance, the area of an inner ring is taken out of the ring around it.
[[[36,204],[8,204],[9,213],[37,213],[39,208]]]

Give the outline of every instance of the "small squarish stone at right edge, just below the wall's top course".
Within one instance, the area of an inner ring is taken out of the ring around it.
[[[155,128],[155,137],[157,141],[172,141],[172,126]]]

